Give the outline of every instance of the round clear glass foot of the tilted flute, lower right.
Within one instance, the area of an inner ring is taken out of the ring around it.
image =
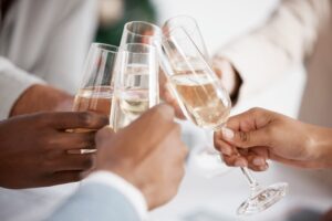
[[[237,210],[237,214],[250,215],[261,212],[281,200],[286,196],[287,191],[288,183],[286,182],[279,182],[260,189],[242,202]]]

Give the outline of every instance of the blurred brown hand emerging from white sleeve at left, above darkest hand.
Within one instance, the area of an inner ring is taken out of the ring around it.
[[[10,116],[35,112],[69,112],[73,106],[73,96],[49,85],[30,86],[11,108]]]

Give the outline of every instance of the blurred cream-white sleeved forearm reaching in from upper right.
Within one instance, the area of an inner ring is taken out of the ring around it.
[[[264,90],[310,56],[330,4],[329,0],[284,0],[263,27],[220,49],[215,60],[227,59],[238,71],[243,81],[240,96]]]

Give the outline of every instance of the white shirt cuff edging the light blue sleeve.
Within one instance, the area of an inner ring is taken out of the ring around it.
[[[141,220],[147,217],[147,203],[143,193],[132,183],[111,171],[96,171],[82,181],[84,183],[103,183],[121,192],[133,204]]]

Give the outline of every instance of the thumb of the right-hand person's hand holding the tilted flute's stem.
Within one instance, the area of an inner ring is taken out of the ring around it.
[[[241,148],[249,148],[255,146],[266,146],[267,136],[263,129],[250,130],[250,131],[234,131],[224,127],[221,129],[222,138]]]

